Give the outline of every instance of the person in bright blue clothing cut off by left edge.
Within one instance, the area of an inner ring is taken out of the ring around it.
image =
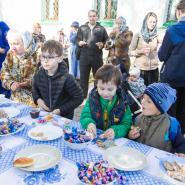
[[[7,32],[9,31],[8,25],[0,21],[0,69],[2,67],[2,63],[5,60],[6,53],[9,50],[9,44],[6,39]],[[10,91],[6,90],[2,87],[2,82],[0,80],[0,94],[5,94],[7,98],[10,97]]]

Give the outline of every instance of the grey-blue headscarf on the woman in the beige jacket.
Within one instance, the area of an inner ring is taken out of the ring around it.
[[[157,20],[157,15],[153,12],[149,12],[143,20],[143,25],[141,28],[141,35],[143,36],[143,39],[146,43],[149,43],[154,37],[157,36],[157,23],[152,31],[149,31],[148,29],[147,20],[150,16],[155,17]]]

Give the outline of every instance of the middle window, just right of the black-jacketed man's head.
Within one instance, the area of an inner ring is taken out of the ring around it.
[[[116,19],[117,0],[96,0],[96,10],[99,20]]]

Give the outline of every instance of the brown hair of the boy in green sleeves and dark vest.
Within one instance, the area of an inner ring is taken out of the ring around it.
[[[121,84],[121,72],[112,64],[105,64],[95,74],[95,83],[97,84],[98,80],[102,80],[103,83],[108,83],[113,81],[117,86]]]

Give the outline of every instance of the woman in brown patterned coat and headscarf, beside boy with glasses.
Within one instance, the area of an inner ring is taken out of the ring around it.
[[[2,85],[11,90],[11,99],[30,106],[32,78],[37,69],[37,47],[32,34],[10,30],[7,34],[10,50],[2,65]]]

